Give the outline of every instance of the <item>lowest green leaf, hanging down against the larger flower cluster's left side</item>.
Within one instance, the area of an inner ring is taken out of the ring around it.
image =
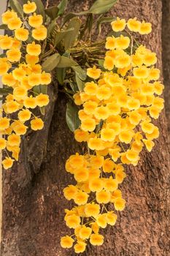
[[[69,129],[74,132],[75,129],[80,127],[80,119],[78,116],[79,109],[77,105],[68,102],[66,105],[66,123]]]

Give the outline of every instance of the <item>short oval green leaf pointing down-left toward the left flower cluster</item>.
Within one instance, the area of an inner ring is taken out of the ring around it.
[[[47,57],[47,59],[42,63],[42,70],[45,70],[46,72],[52,71],[57,67],[60,59],[61,56],[59,53],[54,53],[50,57]]]

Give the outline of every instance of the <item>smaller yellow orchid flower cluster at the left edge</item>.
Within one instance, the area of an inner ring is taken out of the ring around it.
[[[49,102],[47,94],[34,91],[34,86],[47,86],[51,82],[50,73],[42,71],[39,64],[47,29],[42,25],[42,15],[36,15],[34,2],[23,4],[23,12],[23,18],[13,10],[2,14],[2,22],[12,32],[10,37],[7,34],[0,36],[0,48],[4,50],[4,57],[0,58],[1,80],[11,89],[2,105],[0,117],[0,132],[4,135],[0,138],[0,149],[7,154],[2,161],[5,169],[18,160],[21,136],[26,134],[28,127],[31,125],[33,130],[44,127],[42,118],[34,116],[32,110]]]

